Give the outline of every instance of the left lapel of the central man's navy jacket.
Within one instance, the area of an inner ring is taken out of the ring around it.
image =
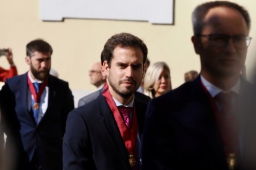
[[[124,145],[121,133],[117,127],[116,120],[114,119],[114,115],[110,110],[105,97],[100,95],[96,98],[96,102],[100,112],[100,123],[109,137],[109,143],[113,145],[113,148],[116,151],[116,155],[119,156],[122,164],[124,164],[124,167],[129,167],[129,159],[126,146]]]

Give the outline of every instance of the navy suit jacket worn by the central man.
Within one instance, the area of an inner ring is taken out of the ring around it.
[[[146,95],[135,92],[140,137],[149,100]],[[69,114],[63,143],[63,163],[66,170],[130,170],[121,133],[103,95]]]

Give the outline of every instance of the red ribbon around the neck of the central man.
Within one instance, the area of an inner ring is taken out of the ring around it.
[[[124,144],[126,145],[127,151],[129,152],[129,154],[132,154],[134,148],[136,147],[138,133],[135,105],[132,113],[132,124],[130,127],[131,130],[129,130],[129,128],[126,126],[126,123],[124,123],[124,119],[122,119],[121,113],[119,113],[116,103],[114,102],[114,99],[110,94],[108,88],[106,88],[106,90],[103,92],[103,96],[105,97],[106,102],[108,103],[111,111],[113,112],[114,119],[116,120],[119,131],[121,132],[122,140],[124,140]]]

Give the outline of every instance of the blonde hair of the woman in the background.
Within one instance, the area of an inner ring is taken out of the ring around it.
[[[151,98],[155,97],[154,86],[160,78],[161,72],[163,70],[168,70],[169,74],[171,73],[166,62],[155,62],[148,67],[148,70],[145,73],[143,85],[145,95],[148,95]],[[169,81],[171,84],[171,79],[169,79]],[[169,90],[171,90],[171,86]]]

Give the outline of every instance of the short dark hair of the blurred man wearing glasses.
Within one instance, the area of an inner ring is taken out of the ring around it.
[[[242,17],[244,17],[248,30],[250,30],[250,16],[247,10],[244,9],[244,7],[229,1],[213,1],[203,3],[194,9],[192,13],[192,23],[195,35],[202,33],[204,25],[203,19],[205,18],[205,15],[207,15],[208,10],[214,7],[228,7],[238,10],[242,14]]]

